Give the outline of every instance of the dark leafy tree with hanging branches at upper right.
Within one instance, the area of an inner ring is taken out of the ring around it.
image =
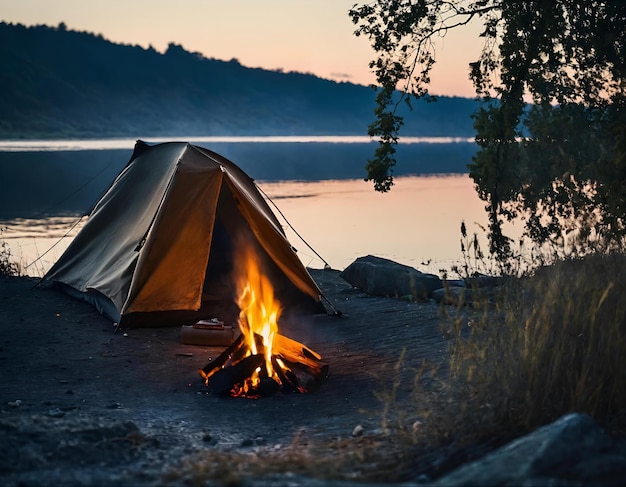
[[[510,255],[504,220],[536,243],[568,235],[610,248],[626,236],[626,2],[376,0],[349,12],[379,86],[367,181],[393,185],[401,103],[432,98],[435,41],[471,21],[484,47],[469,76],[481,100],[470,177],[489,214],[490,251]],[[575,243],[574,240],[571,242]]]

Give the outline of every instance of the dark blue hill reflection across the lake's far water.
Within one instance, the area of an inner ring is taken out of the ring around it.
[[[443,138],[442,138],[443,139]],[[448,139],[443,139],[448,140]],[[101,141],[97,141],[100,143]],[[109,141],[111,142],[111,141]],[[0,218],[84,214],[99,199],[132,155],[126,149],[0,150]],[[1,144],[0,144],[1,145]],[[215,142],[207,148],[230,159],[257,181],[358,180],[374,153],[370,143]],[[465,173],[473,143],[417,143],[398,147],[396,176]],[[316,194],[302,190],[292,194]]]

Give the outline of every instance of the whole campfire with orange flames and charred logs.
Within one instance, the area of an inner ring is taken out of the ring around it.
[[[237,275],[238,338],[199,370],[215,393],[263,397],[277,392],[308,392],[328,375],[322,357],[278,332],[282,312],[274,288],[252,250],[242,253]]]

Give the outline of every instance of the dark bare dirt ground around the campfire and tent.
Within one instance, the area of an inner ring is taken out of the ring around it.
[[[258,400],[212,394],[198,369],[223,348],[183,345],[180,327],[114,333],[89,304],[37,279],[0,279],[0,483],[277,485],[272,469],[254,472],[281,455],[274,473],[285,485],[366,479],[365,457],[353,472],[346,457],[336,473],[332,461],[324,472],[307,463],[325,455],[338,465],[344,446],[379,436],[377,394],[391,387],[403,349],[405,372],[445,364],[440,310],[367,296],[337,271],[311,273],[342,316],[299,317],[281,333],[321,354],[330,375],[313,392]],[[408,410],[407,391],[397,405]],[[410,475],[387,460],[376,478]]]

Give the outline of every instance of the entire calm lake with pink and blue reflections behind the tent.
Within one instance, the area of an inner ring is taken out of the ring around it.
[[[466,139],[405,140],[395,185],[384,194],[363,181],[376,147],[368,138],[192,142],[255,178],[309,267],[343,269],[372,254],[423,271],[449,270],[462,258],[462,221],[485,244],[484,203],[466,168],[476,149]],[[80,215],[126,164],[133,146],[130,139],[0,141],[2,238],[28,275],[43,275],[63,252],[84,223]]]

